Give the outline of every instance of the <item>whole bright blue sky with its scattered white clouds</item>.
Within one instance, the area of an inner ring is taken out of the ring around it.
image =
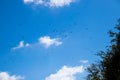
[[[0,80],[85,80],[119,17],[119,0],[1,0]]]

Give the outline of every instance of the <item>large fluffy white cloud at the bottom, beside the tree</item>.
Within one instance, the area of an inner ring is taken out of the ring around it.
[[[63,66],[55,74],[46,77],[45,80],[76,80],[76,74],[84,72],[83,66],[68,67]]]

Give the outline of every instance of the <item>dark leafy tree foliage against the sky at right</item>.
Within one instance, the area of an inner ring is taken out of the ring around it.
[[[109,31],[111,45],[105,52],[97,53],[101,60],[87,68],[87,80],[120,80],[120,19],[115,29]]]

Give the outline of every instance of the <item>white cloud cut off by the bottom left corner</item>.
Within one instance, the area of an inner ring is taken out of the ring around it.
[[[24,77],[9,75],[7,72],[0,72],[0,80],[23,80]]]

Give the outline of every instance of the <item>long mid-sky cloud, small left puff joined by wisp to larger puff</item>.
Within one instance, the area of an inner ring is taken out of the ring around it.
[[[37,43],[29,44],[25,43],[24,41],[20,41],[19,44],[12,48],[12,50],[25,48],[25,47],[32,47],[34,44],[42,44],[45,48],[48,48],[52,45],[59,46],[62,44],[62,42],[58,38],[50,38],[50,36],[43,36],[38,39]]]

